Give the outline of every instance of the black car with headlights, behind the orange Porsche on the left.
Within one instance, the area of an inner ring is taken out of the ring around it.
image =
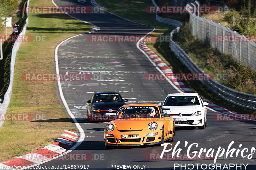
[[[123,100],[118,92],[95,92],[91,100],[87,101],[87,119],[89,121],[110,121],[126,101],[128,99]]]

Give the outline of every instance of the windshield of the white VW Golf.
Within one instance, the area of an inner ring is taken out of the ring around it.
[[[169,96],[163,106],[200,105],[197,96]]]

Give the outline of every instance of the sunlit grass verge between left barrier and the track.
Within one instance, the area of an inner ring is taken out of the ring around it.
[[[31,0],[29,6],[54,6],[51,0]],[[26,35],[45,36],[45,42],[23,42],[17,53],[12,98],[7,114],[33,114],[46,120],[5,121],[0,128],[0,161],[40,149],[62,130],[77,131],[60,104],[54,81],[23,81],[22,74],[53,74],[54,49],[68,37],[88,32],[89,24],[66,14],[28,14]],[[35,39],[34,39],[35,40]],[[42,39],[41,39],[42,40]]]

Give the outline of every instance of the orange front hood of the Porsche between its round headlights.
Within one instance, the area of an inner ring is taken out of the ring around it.
[[[114,123],[117,130],[142,130],[156,120],[157,118],[115,119]]]

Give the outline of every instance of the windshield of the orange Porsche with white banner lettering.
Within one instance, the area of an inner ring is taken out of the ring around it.
[[[159,116],[157,107],[132,106],[120,108],[114,119],[160,118]]]

